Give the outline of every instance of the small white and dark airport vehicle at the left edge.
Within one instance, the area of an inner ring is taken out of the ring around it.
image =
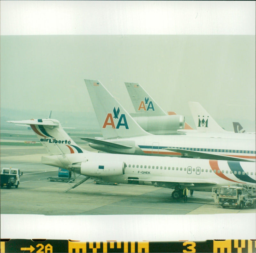
[[[6,186],[8,189],[11,189],[12,186],[18,188],[20,184],[20,177],[23,172],[20,172],[20,169],[3,168],[1,170],[1,188]]]

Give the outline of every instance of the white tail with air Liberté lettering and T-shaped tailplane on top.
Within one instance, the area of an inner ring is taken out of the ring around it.
[[[58,120],[32,119],[7,122],[30,125],[49,154],[84,153],[85,151],[69,137]]]

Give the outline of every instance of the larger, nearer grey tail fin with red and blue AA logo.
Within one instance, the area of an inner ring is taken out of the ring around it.
[[[84,79],[104,138],[149,135],[98,80]]]

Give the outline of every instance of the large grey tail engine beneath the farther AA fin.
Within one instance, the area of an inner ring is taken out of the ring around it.
[[[135,116],[133,119],[141,128],[152,134],[169,134],[185,126],[183,115]]]

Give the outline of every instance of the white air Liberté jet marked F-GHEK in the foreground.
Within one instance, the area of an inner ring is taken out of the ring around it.
[[[185,186],[211,190],[212,186],[256,183],[253,162],[95,153],[79,147],[58,120],[7,122],[29,125],[49,154],[42,156],[41,162],[86,176],[81,182],[98,178],[124,184],[157,185],[176,189],[172,193],[175,199],[181,196],[180,190]]]

